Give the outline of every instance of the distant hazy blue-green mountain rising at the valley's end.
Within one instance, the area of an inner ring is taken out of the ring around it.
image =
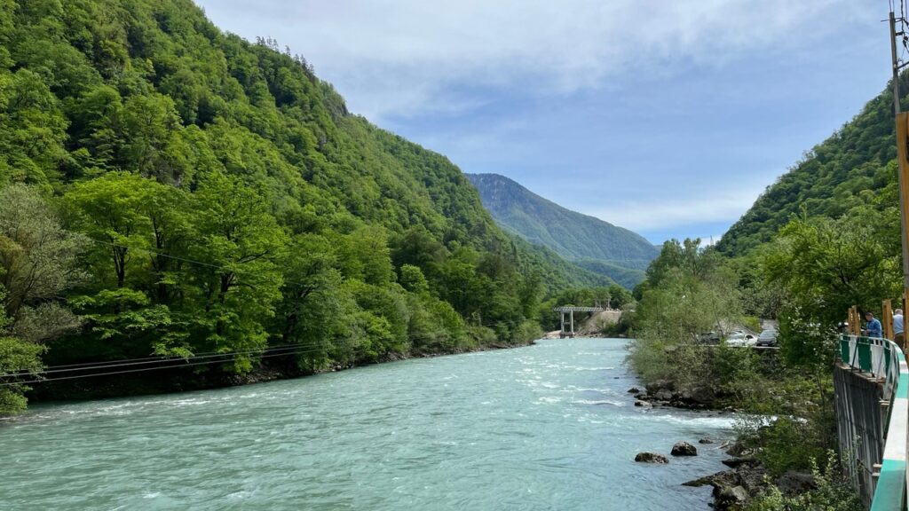
[[[659,249],[633,231],[582,215],[536,195],[504,175],[467,174],[496,223],[625,287],[644,279]]]

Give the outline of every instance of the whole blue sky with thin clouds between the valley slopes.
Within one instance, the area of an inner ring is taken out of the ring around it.
[[[348,108],[654,243],[722,235],[883,90],[884,0],[196,0]]]

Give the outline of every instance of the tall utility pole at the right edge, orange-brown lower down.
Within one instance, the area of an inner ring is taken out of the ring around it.
[[[900,13],[900,22],[905,20]],[[894,115],[896,117],[896,162],[899,165],[897,174],[899,175],[900,184],[900,225],[903,235],[903,303],[909,299],[909,115],[901,112],[900,108],[900,69],[905,64],[900,64],[899,57],[896,55],[896,38],[903,38],[905,32],[901,30],[896,32],[896,17],[894,12],[890,11],[890,57],[893,64],[894,72]]]

